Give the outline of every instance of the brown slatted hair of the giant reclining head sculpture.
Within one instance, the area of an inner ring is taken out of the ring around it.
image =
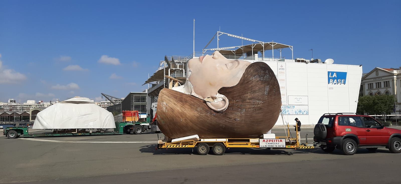
[[[266,63],[251,63],[237,85],[223,87],[219,93],[229,99],[228,108],[222,112],[213,111],[192,95],[162,89],[157,109],[160,130],[170,138],[257,138],[278,119],[279,84]]]

